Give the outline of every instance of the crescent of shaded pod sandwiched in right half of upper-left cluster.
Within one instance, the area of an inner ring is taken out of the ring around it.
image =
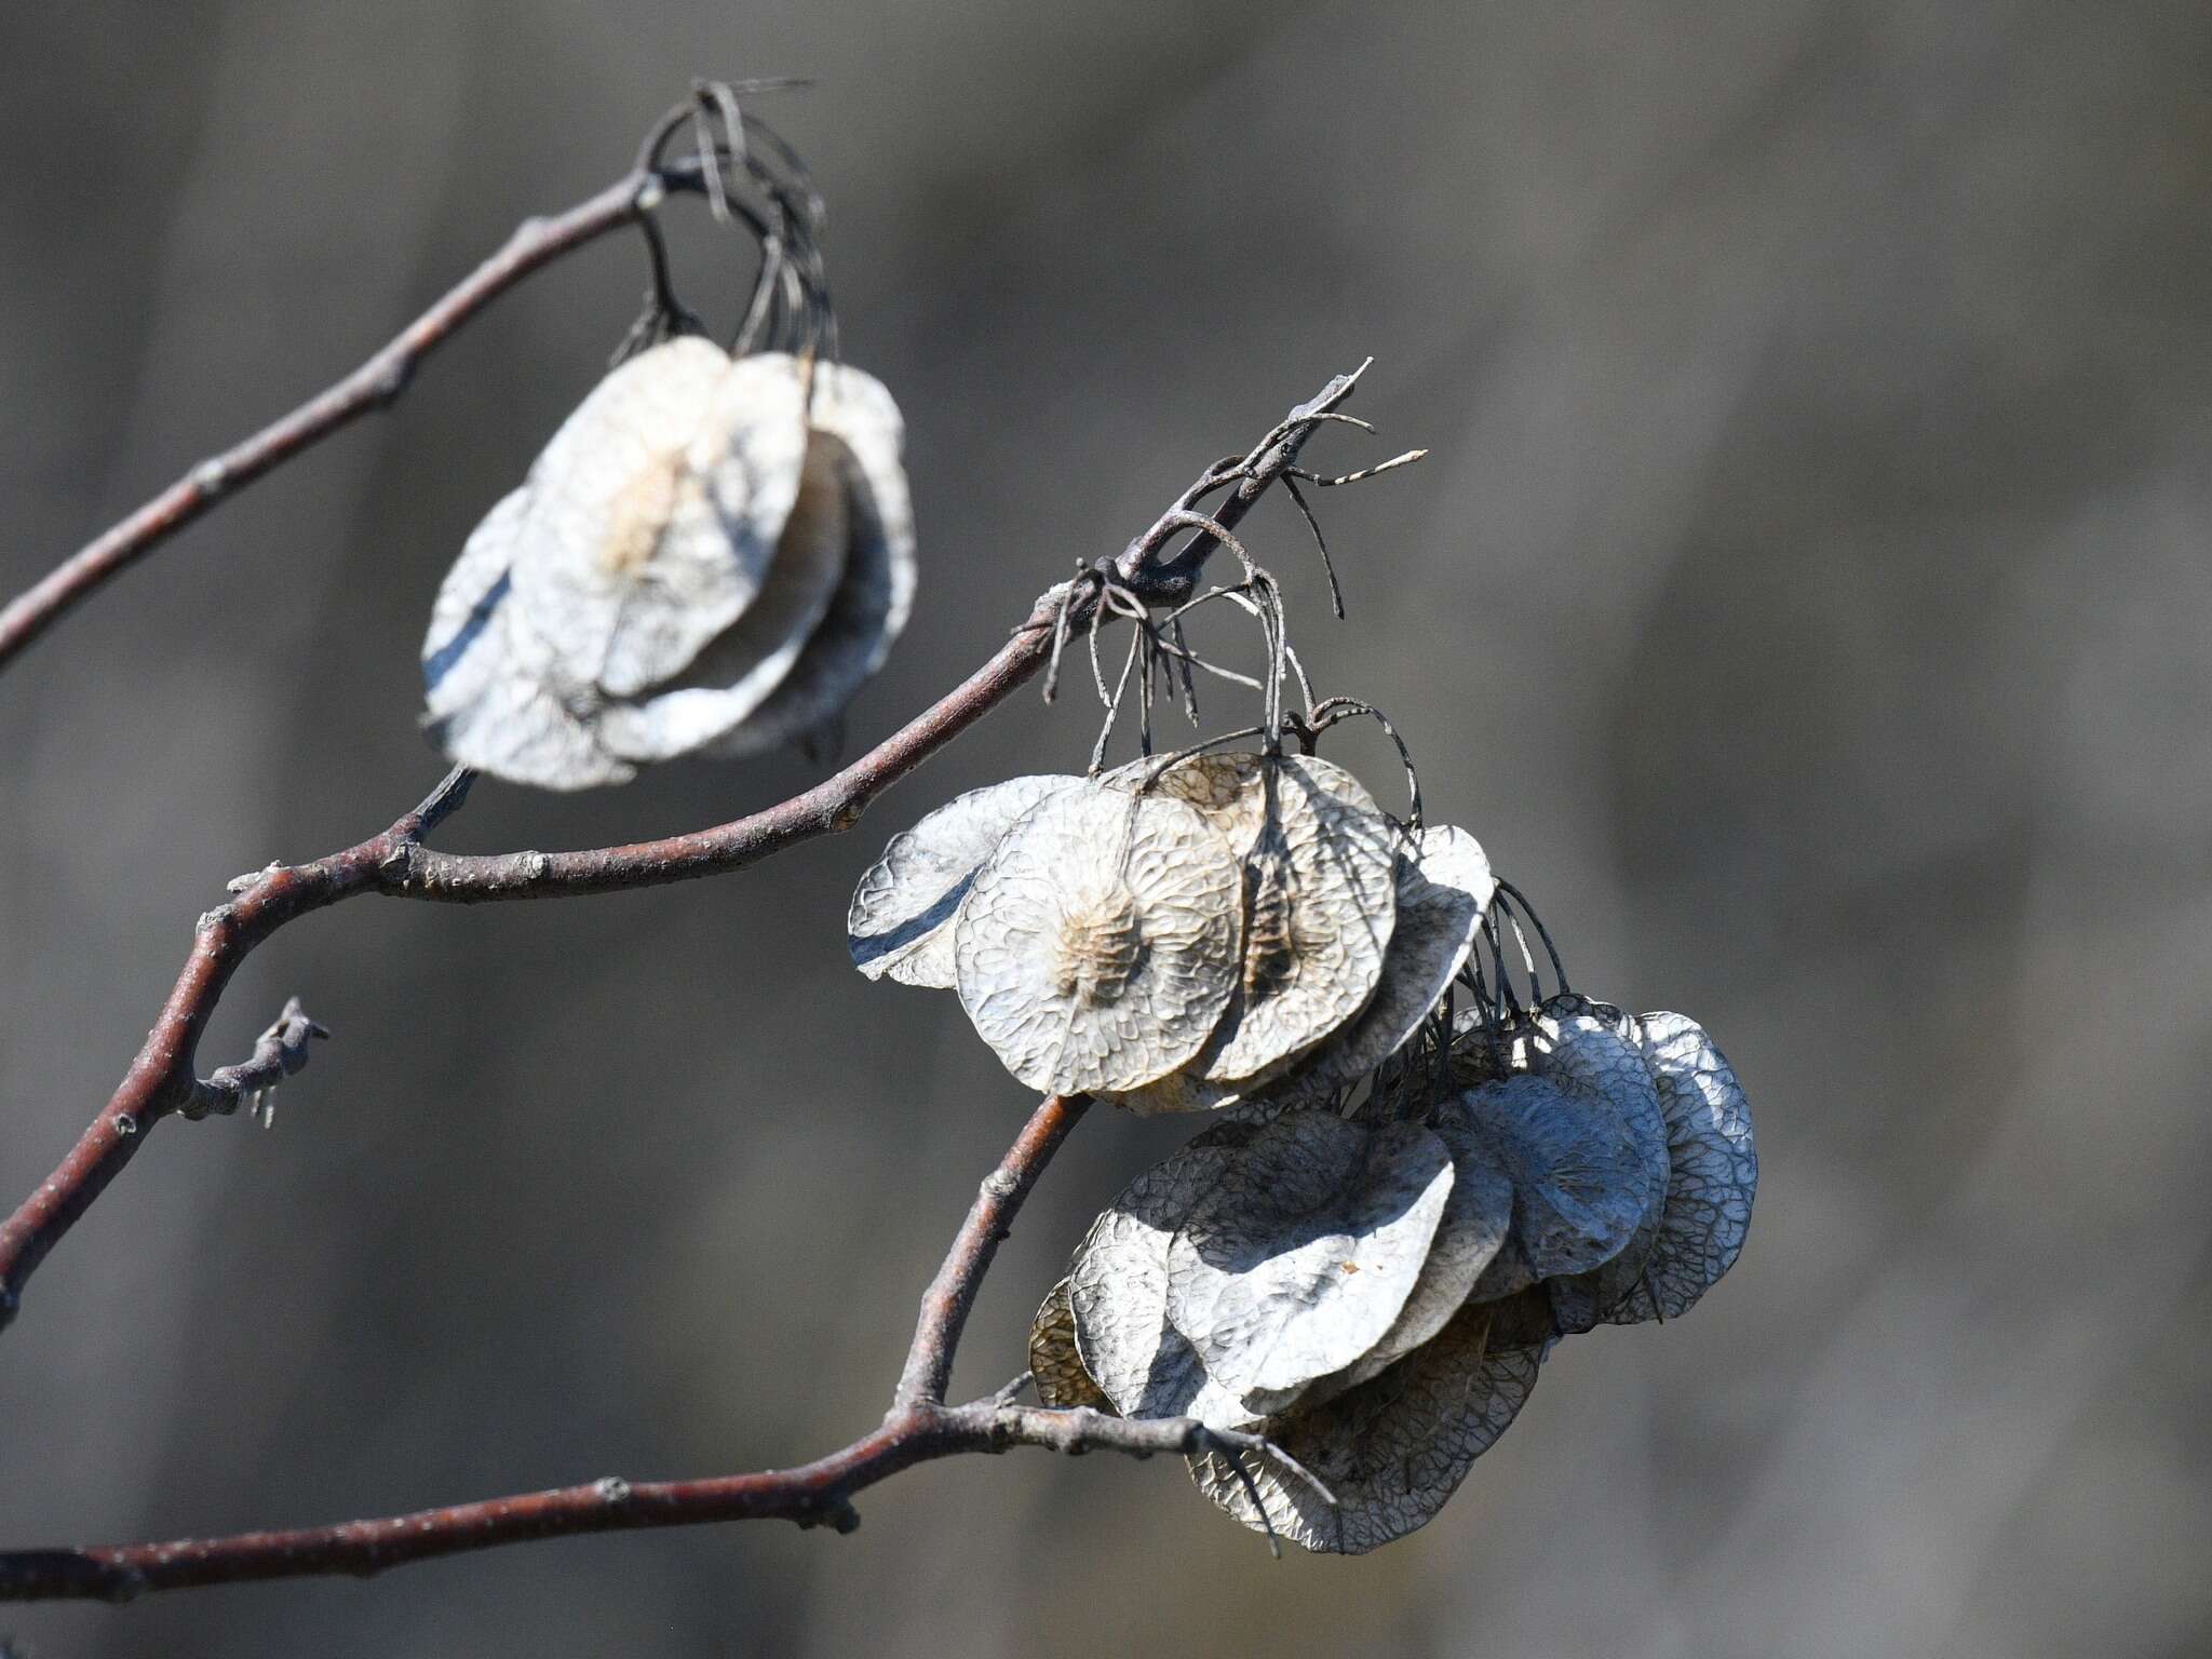
[[[599,706],[593,723],[604,748],[628,761],[692,754],[739,730],[774,695],[845,575],[856,478],[858,462],[845,442],[814,434],[776,557],[752,604],[688,668],[639,697]]]

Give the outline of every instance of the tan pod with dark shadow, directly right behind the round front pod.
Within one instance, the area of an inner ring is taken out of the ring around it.
[[[1396,832],[1338,765],[1314,757],[1199,754],[1159,772],[1106,779],[1188,801],[1243,865],[1245,949],[1237,995],[1183,1075],[1139,1113],[1210,1110],[1243,1099],[1367,1006],[1396,925]]]

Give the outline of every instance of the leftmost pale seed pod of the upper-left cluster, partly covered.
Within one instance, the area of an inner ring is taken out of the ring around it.
[[[422,639],[425,730],[449,761],[518,783],[626,783],[637,770],[546,688],[551,655],[513,604],[526,504],[524,489],[504,495],[438,588]]]

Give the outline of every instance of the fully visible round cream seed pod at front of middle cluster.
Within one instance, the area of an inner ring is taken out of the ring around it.
[[[1048,794],[953,922],[960,1004],[1040,1093],[1135,1088],[1199,1051],[1237,982],[1237,860],[1181,801]]]

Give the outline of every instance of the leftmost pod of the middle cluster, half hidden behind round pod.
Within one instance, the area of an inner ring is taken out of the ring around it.
[[[953,989],[953,916],[975,869],[1037,801],[1082,779],[1006,779],[947,801],[891,836],[845,914],[845,947],[867,978]]]

